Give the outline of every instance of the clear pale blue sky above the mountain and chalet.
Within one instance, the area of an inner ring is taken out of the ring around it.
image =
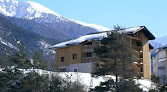
[[[19,0],[23,1],[23,0]],[[26,0],[56,13],[110,29],[146,26],[156,37],[167,36],[167,0]]]

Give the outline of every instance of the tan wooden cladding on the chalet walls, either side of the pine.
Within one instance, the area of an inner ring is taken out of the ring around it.
[[[151,54],[149,49],[148,37],[143,32],[135,36],[127,36],[126,40],[134,56],[134,68],[140,73],[141,77],[151,78]],[[56,64],[58,66],[69,66],[70,64],[99,62],[99,58],[94,53],[94,48],[101,46],[100,41],[85,41],[77,45],[71,45],[66,48],[56,49]],[[63,59],[62,59],[63,57]]]

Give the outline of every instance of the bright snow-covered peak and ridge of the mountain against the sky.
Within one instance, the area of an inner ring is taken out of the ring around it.
[[[38,22],[58,23],[58,22],[74,22],[85,27],[94,28],[98,31],[110,30],[106,27],[98,26],[95,24],[86,24],[73,19],[65,18],[48,8],[32,2],[32,1],[13,1],[13,0],[0,0],[0,13],[24,19],[38,19]]]

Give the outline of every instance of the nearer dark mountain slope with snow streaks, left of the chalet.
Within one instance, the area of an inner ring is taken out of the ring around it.
[[[44,60],[54,60],[54,52],[48,48],[56,43],[56,40],[30,32],[0,17],[0,56],[6,51],[9,54],[18,51],[17,40],[24,42],[28,56],[32,57],[34,51],[39,51],[43,53]]]

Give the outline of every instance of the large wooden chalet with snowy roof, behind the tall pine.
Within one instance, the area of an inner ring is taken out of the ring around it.
[[[107,32],[88,34],[52,46],[52,49],[56,51],[56,64],[59,69],[65,72],[90,73],[99,62],[93,48],[101,45],[101,40],[107,37]],[[136,58],[135,69],[141,77],[150,79],[150,49],[153,47],[148,41],[155,37],[145,26],[121,29],[119,32],[126,34],[126,39]]]

